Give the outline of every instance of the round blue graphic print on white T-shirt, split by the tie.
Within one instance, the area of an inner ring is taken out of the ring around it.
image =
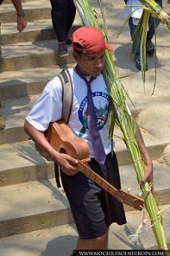
[[[108,120],[108,107],[109,107],[109,95],[104,92],[93,92],[93,103],[95,106],[95,112],[97,115],[97,127],[101,130]],[[78,118],[82,124],[82,128],[79,132],[79,136],[82,137],[88,129],[87,119],[87,96],[82,100],[80,108],[78,110]]]

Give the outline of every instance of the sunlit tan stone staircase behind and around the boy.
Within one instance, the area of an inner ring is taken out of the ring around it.
[[[34,149],[34,143],[23,130],[23,122],[46,82],[61,69],[73,65],[73,58],[71,50],[69,57],[57,57],[57,38],[51,25],[49,1],[23,1],[23,6],[26,10],[28,26],[20,34],[16,32],[16,16],[10,1],[6,1],[0,10],[2,21],[0,114],[6,118],[6,129],[0,130],[0,254],[1,256],[66,256],[75,248],[77,239],[69,204],[63,191],[56,188],[53,163],[46,162]],[[120,13],[123,3],[120,6],[119,1],[115,1],[114,4],[112,1],[104,1],[104,6],[106,10],[110,10],[111,6],[115,7],[113,10],[117,10],[117,12],[113,11],[112,16],[107,17],[109,34],[111,34],[113,24],[121,26]],[[81,26],[78,15],[73,29],[77,26]],[[125,36],[129,36],[128,28]],[[111,42],[114,42],[113,38]],[[125,42],[128,45],[127,38],[115,42],[117,49]],[[119,59],[117,50],[115,56],[117,62]],[[128,66],[133,66],[129,59]],[[122,71],[123,67],[118,65],[117,70]],[[152,78],[152,74],[149,75]],[[146,110],[148,105],[154,105],[157,98],[160,102],[165,102],[165,98],[170,95],[168,90],[169,94],[159,94],[155,98],[143,97],[139,102],[139,87],[135,87],[134,79],[139,86],[140,74],[136,74],[134,78],[132,73],[129,78],[125,78],[125,82],[127,87],[133,88],[132,99],[136,103],[136,109],[132,108],[132,113],[135,117],[140,117],[140,113]],[[118,128],[116,133],[120,134]],[[154,159],[157,202],[164,207],[170,202],[170,167],[165,164],[162,155],[169,142],[164,142],[147,130],[143,130],[142,133],[144,142]],[[120,139],[115,140],[122,187],[127,190],[130,187],[132,193],[137,194],[140,190],[128,152]],[[113,241],[109,242],[109,248],[142,249],[156,246],[151,229],[141,236],[141,242],[132,243],[129,240],[128,234],[133,234],[141,222],[141,213],[127,206],[125,210],[128,225],[111,227],[110,237]],[[168,212],[169,210],[165,212],[167,218],[164,228],[169,242]],[[146,234],[149,235],[151,243],[148,242]]]

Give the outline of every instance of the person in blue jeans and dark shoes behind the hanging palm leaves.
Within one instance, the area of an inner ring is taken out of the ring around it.
[[[128,0],[124,0],[126,4],[128,4]],[[162,7],[162,0],[156,0],[156,2],[159,4],[159,6]],[[140,4],[141,3],[139,1],[134,1],[134,3],[132,3],[131,1],[131,4]],[[134,15],[134,17],[131,17],[128,21],[128,26],[130,28],[130,34],[131,34],[131,38],[136,30],[136,26],[137,26],[137,23],[139,22],[139,18],[135,18],[135,13],[134,12],[132,15]],[[141,13],[142,14],[142,13]],[[160,19],[157,19],[156,18],[156,27],[159,26],[160,24]],[[153,20],[153,17],[152,15],[150,14],[150,18],[149,18],[149,22],[148,22],[148,34],[147,34],[147,42],[146,42],[146,52],[149,56],[152,56],[155,52],[155,47],[154,47],[154,44],[152,43],[152,38],[155,34],[155,28],[154,28],[154,20]],[[140,43],[139,45],[137,46],[136,48],[136,53],[135,53],[135,65],[136,65],[136,68],[138,70],[141,70],[141,63],[140,63]],[[148,64],[146,63],[146,70],[148,70]]]

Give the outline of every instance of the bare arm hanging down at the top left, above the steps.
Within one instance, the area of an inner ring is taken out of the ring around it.
[[[11,0],[11,1],[17,11],[18,31],[21,32],[26,28],[26,16],[25,16],[25,12],[22,9],[22,2],[21,0]]]

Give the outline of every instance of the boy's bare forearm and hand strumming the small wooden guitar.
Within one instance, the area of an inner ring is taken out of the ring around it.
[[[42,131],[39,131],[31,126],[29,122],[25,122],[24,129],[26,133],[33,139],[35,143],[41,146],[54,162],[57,163],[61,167],[61,170],[65,172],[67,175],[74,175],[77,173],[77,160],[71,158],[68,154],[60,154],[57,150],[54,150],[52,146],[50,146],[49,142],[46,140],[45,135]]]

